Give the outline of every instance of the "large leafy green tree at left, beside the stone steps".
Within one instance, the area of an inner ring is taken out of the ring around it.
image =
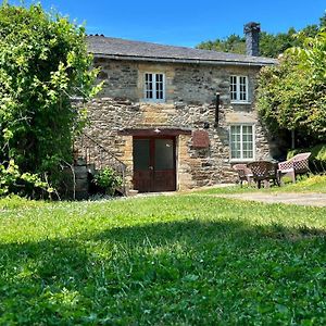
[[[72,160],[85,110],[72,96],[92,97],[98,71],[90,70],[83,26],[39,4],[0,7],[0,161],[57,185],[60,164]],[[0,163],[1,163],[0,162]]]

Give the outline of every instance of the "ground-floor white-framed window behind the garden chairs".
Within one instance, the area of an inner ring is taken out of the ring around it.
[[[231,125],[230,159],[234,161],[251,161],[254,159],[254,125]]]

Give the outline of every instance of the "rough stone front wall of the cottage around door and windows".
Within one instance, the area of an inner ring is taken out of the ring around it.
[[[229,126],[235,123],[255,125],[255,159],[269,158],[271,143],[254,110],[256,67],[209,66],[190,64],[153,64],[97,59],[104,80],[101,95],[87,104],[90,126],[86,134],[97,139],[127,165],[133,188],[133,136],[124,128],[187,128],[208,133],[208,148],[192,146],[191,135],[177,140],[178,189],[230,183],[235,180],[229,159]],[[165,73],[166,102],[142,100],[143,73]],[[231,104],[229,76],[249,77],[249,104]],[[221,93],[220,122],[215,122],[215,93]],[[272,153],[273,154],[273,153]]]

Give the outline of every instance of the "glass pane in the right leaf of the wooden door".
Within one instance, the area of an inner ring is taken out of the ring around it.
[[[155,139],[155,170],[174,168],[174,147],[172,139]]]

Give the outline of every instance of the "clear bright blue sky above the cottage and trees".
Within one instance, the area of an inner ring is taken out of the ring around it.
[[[20,1],[9,1],[20,3]],[[26,4],[32,1],[25,1]],[[318,23],[325,0],[41,0],[78,23],[88,34],[195,47],[200,41],[242,35],[243,24],[260,22],[268,33]]]

